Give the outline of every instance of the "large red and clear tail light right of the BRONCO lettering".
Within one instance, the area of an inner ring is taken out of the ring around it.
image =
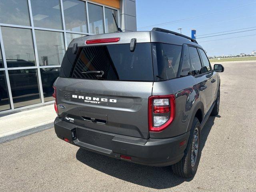
[[[175,96],[150,96],[148,98],[148,129],[160,132],[166,129],[175,117]]]

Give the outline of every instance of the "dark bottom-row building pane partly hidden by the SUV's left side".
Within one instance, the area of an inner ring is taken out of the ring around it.
[[[60,68],[40,68],[43,92],[44,92],[44,102],[52,101],[54,98],[53,94],[53,83],[58,76],[60,76]]]

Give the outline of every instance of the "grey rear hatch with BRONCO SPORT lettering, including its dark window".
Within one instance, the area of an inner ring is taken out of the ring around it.
[[[100,72],[98,72],[100,71]],[[127,136],[149,138],[152,95],[150,43],[68,48],[55,83],[59,117],[67,122]]]

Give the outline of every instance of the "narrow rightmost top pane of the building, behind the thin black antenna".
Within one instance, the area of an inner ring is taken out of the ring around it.
[[[114,20],[113,14],[116,19],[116,22]],[[117,31],[116,23],[118,23],[117,10],[105,7],[105,22],[106,22],[106,33],[116,32]]]

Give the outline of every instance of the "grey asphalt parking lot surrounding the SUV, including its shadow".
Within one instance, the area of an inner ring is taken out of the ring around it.
[[[0,191],[256,191],[256,62],[224,62],[196,176],[112,159],[45,130],[0,144]],[[54,109],[52,109],[54,110]]]

